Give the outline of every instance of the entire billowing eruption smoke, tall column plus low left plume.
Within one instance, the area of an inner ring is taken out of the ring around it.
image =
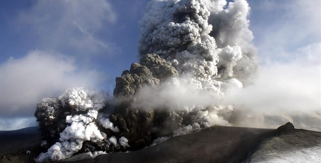
[[[35,116],[49,148],[37,162],[231,125],[234,107],[221,98],[256,70],[248,13],[245,0],[152,0],[140,22],[139,63],[116,78],[113,98],[75,88],[40,101]]]

